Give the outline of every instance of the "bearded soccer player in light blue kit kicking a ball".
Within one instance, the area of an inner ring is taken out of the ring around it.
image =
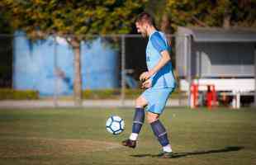
[[[130,138],[122,141],[122,145],[135,148],[136,140],[145,120],[145,110],[147,120],[151,125],[154,135],[163,147],[163,152],[159,153],[161,158],[171,158],[172,148],[168,140],[168,134],[164,125],[159,120],[163,113],[169,95],[176,87],[173,76],[173,65],[171,63],[168,50],[168,40],[163,32],[157,31],[154,26],[154,19],[149,13],[142,12],[135,21],[135,26],[142,36],[149,37],[146,47],[146,64],[148,71],[140,74],[142,87],[146,90],[135,101],[135,115]]]

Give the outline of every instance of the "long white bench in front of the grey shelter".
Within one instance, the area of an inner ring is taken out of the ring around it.
[[[206,91],[206,85],[214,85],[216,92],[226,92],[227,95],[234,96],[232,106],[240,107],[240,96],[254,95],[255,80],[254,78],[202,78],[192,81],[198,84],[199,91]],[[185,79],[180,80],[180,89],[187,92],[188,82]]]

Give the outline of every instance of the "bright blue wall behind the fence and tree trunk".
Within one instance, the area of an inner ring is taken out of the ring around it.
[[[53,37],[31,42],[24,33],[16,33],[13,40],[15,89],[38,90],[40,96],[73,93],[73,50],[64,39],[57,38],[56,43]],[[81,64],[83,89],[118,87],[117,53],[106,41],[98,38],[90,43],[82,42]]]

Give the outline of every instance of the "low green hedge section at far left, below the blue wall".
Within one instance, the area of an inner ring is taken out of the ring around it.
[[[35,100],[39,99],[39,92],[32,90],[13,90],[0,88],[0,100]]]

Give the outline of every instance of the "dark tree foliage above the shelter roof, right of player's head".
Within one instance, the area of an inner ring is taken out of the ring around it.
[[[256,0],[165,0],[162,4],[166,12],[159,17],[168,13],[173,30],[177,26],[256,26]]]

